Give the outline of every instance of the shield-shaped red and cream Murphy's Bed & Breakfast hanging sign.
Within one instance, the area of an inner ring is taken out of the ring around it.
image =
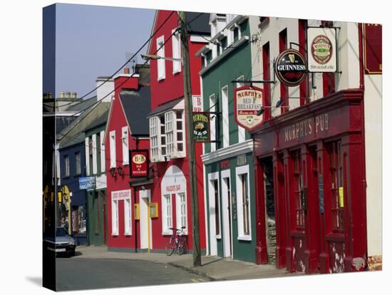
[[[262,108],[263,90],[254,86],[242,86],[234,89],[234,120],[237,125],[251,130],[263,122],[257,112]]]

